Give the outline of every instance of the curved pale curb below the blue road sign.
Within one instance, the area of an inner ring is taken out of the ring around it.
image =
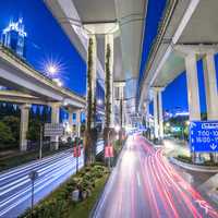
[[[218,172],[217,167],[205,167],[205,166],[198,166],[198,165],[191,165],[191,164],[182,162],[173,157],[168,157],[168,159],[170,160],[170,162],[172,162],[179,167],[182,167],[184,169],[187,169],[187,170],[198,171],[198,172]]]

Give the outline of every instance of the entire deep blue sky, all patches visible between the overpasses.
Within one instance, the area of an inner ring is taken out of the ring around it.
[[[165,9],[166,0],[149,0],[147,21],[145,24],[145,36],[140,75],[146,68],[146,60],[152,43],[157,34],[157,27]],[[76,52],[63,31],[52,17],[43,0],[1,0],[0,3],[0,31],[8,26],[10,19],[17,20],[22,16],[27,36],[27,61],[37,70],[43,71],[45,62],[52,59],[61,62],[60,76],[64,86],[85,95],[86,89],[86,65]],[[218,58],[216,57],[216,68]],[[202,61],[197,63],[201,108],[205,111],[205,93]],[[182,73],[164,92],[164,108],[173,110],[181,107],[187,110],[186,81]]]

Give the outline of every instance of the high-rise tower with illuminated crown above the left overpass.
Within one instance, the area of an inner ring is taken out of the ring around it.
[[[3,29],[1,43],[17,56],[26,58],[26,37],[23,19],[20,17],[17,22],[10,21],[9,26]]]

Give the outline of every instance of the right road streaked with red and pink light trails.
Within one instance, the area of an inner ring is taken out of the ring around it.
[[[205,218],[215,208],[142,136],[130,136],[95,218]]]

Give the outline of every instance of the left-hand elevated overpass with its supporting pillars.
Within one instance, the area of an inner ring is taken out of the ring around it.
[[[0,90],[0,101],[20,105],[21,132],[20,148],[27,148],[26,133],[28,131],[28,113],[31,105],[47,105],[51,107],[51,122],[59,123],[60,107],[69,111],[69,122],[72,125],[72,114],[76,113],[77,134],[81,128],[81,111],[85,110],[86,100],[83,96],[59,87],[53,81],[35,71],[9,49],[0,46],[0,85],[15,90]],[[58,149],[58,137],[51,137]]]

